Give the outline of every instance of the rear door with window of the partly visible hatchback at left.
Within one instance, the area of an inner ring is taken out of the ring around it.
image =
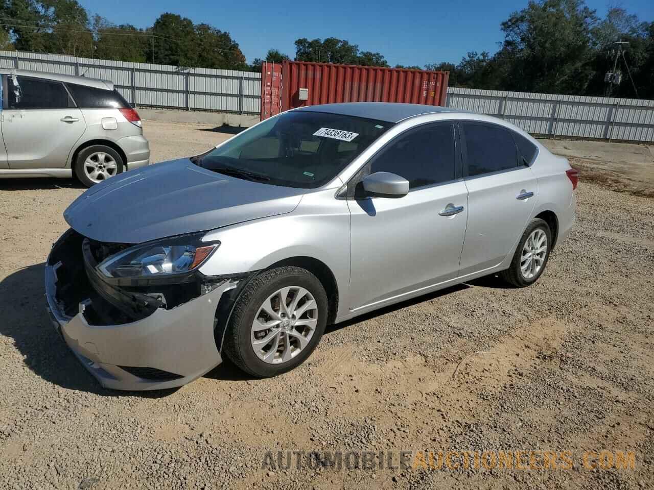
[[[86,123],[56,80],[8,74],[2,134],[10,169],[66,166]]]

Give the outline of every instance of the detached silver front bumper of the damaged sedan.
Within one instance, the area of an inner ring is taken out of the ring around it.
[[[56,294],[61,262],[50,262],[48,258],[45,274],[50,318],[82,365],[104,387],[178,387],[222,361],[220,346],[216,348],[216,308],[222,295],[235,289],[237,282],[226,280],[209,293],[169,310],[158,308],[150,316],[131,323],[91,325],[84,315],[84,301],[75,316],[63,311]]]

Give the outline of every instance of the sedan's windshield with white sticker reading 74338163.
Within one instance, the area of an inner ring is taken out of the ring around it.
[[[266,184],[317,188],[392,125],[341,114],[286,112],[228,140],[198,165]]]

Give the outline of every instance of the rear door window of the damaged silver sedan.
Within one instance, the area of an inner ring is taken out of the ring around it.
[[[518,165],[515,142],[508,129],[485,124],[464,124],[468,175],[513,169]]]

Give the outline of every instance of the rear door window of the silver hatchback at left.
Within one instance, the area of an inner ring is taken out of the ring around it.
[[[7,75],[7,100],[10,109],[62,109],[73,107],[60,82]]]

